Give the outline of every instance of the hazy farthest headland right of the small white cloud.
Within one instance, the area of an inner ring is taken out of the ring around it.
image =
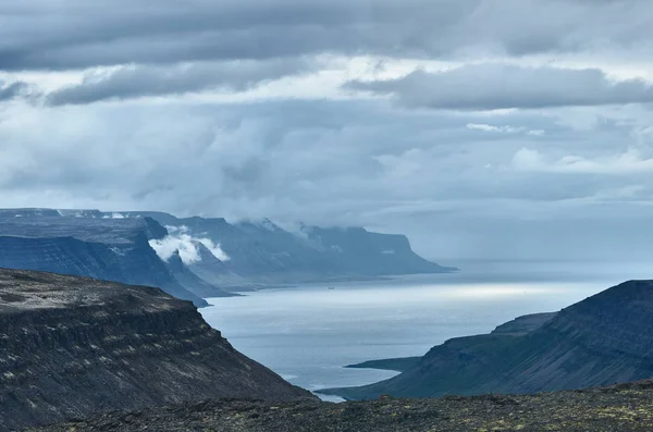
[[[185,230],[194,238],[218,245],[220,264],[204,260],[189,264],[199,275],[221,286],[243,283],[287,284],[416,273],[444,273],[456,269],[430,262],[410,248],[403,235],[370,233],[361,227],[301,226],[283,230],[264,219],[231,224],[222,218],[177,219],[161,212],[116,212],[147,217],[164,226]]]

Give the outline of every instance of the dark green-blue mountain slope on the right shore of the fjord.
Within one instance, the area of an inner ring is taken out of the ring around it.
[[[653,281],[609,288],[525,334],[532,323],[447,341],[393,379],[328,393],[355,399],[535,393],[653,378]]]

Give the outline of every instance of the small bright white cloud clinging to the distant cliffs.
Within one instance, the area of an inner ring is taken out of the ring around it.
[[[229,256],[220,248],[220,244],[213,243],[209,238],[195,238],[188,234],[188,229],[185,226],[175,227],[167,226],[168,236],[161,239],[150,240],[150,246],[159,258],[164,261],[178,251],[180,258],[185,264],[193,264],[201,261],[201,255],[198,248],[198,244],[206,246],[207,249],[213,254],[215,258],[221,261],[227,261]]]

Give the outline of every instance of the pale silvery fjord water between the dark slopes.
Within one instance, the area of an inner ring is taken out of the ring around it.
[[[201,313],[236,349],[315,392],[396,374],[346,365],[421,356],[451,337],[488,333],[518,316],[556,311],[626,280],[653,276],[645,263],[459,266],[464,271],[452,274],[306,284],[212,298],[213,306]]]

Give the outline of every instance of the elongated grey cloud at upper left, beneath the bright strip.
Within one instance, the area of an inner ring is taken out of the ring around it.
[[[106,74],[88,73],[83,82],[47,97],[50,106],[83,104],[106,99],[227,89],[242,91],[263,82],[313,70],[301,59],[194,63],[176,66],[124,66]]]

